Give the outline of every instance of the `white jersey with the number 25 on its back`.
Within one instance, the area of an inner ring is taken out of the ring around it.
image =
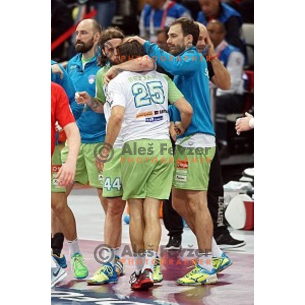
[[[120,73],[108,84],[106,102],[110,108],[125,108],[120,132],[124,143],[169,139],[168,84],[160,73]]]

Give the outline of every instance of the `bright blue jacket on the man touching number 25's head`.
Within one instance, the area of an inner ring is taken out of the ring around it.
[[[153,58],[157,65],[174,75],[174,83],[193,107],[191,124],[179,137],[196,133],[215,136],[211,119],[208,69],[204,56],[198,53],[196,47],[188,48],[175,57],[154,43],[145,42],[144,48],[150,57],[155,56]],[[174,105],[172,111],[174,120],[180,120],[179,111]]]

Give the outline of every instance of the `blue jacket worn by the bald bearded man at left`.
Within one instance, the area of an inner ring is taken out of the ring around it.
[[[68,62],[67,71],[77,92],[86,91],[95,97],[96,74],[100,70],[97,58],[93,57],[82,68],[82,54],[77,54]],[[98,143],[105,140],[106,120],[104,114],[94,112],[89,106],[85,106],[81,116],[76,121],[79,128],[82,143]]]

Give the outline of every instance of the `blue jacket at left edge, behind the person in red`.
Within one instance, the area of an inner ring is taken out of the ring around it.
[[[57,64],[54,60],[51,60],[51,65]],[[62,86],[65,89],[65,92],[69,98],[70,107],[73,112],[75,119],[78,119],[83,111],[83,106],[78,105],[75,102],[75,87],[73,82],[62,65],[59,65],[60,69],[64,72],[64,77],[60,78],[59,74],[54,74],[51,69],[51,81],[57,83],[58,85]]]

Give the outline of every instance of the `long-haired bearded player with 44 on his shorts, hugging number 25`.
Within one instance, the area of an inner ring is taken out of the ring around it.
[[[154,69],[153,61],[148,56],[145,56],[142,60],[138,58],[122,64],[119,71],[117,71],[115,68],[115,65],[119,63],[117,48],[123,39],[124,34],[116,27],[108,27],[101,32],[99,63],[102,68],[96,75],[96,98],[93,98],[94,95],[88,92],[79,92],[76,98],[79,104],[88,105],[93,111],[103,113],[103,105],[106,102],[103,78],[106,72],[111,70],[116,75],[123,69],[128,71],[150,71]],[[125,208],[125,200],[121,198],[120,154],[121,147],[118,143],[114,145],[114,155],[111,161],[105,164],[103,171],[103,198],[107,198],[104,242],[110,246],[108,251],[114,252],[114,255],[112,255],[111,261],[103,261],[102,266],[94,273],[93,277],[87,280],[88,285],[116,283],[117,277],[124,275],[124,266],[119,257],[122,229],[121,216]],[[102,257],[106,257],[106,255]]]

